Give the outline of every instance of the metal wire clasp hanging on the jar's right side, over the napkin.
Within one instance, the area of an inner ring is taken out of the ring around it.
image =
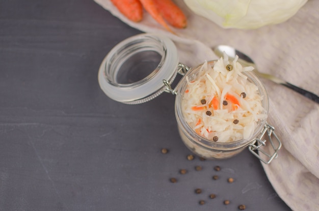
[[[268,124],[267,122],[265,123],[263,130],[261,131],[261,134],[258,138],[255,138],[253,142],[249,145],[248,149],[251,153],[253,153],[260,161],[262,161],[265,164],[270,164],[273,159],[276,159],[278,156],[278,150],[281,148],[281,141],[277,137],[277,135],[274,132],[275,128]],[[261,147],[264,147],[266,145],[267,140],[262,140],[264,135],[267,133],[268,141],[270,142],[273,152],[266,152],[261,149]],[[277,141],[277,145],[273,142],[273,137],[275,137],[275,140]],[[257,152],[261,152],[265,156],[268,157],[267,160],[263,159]]]

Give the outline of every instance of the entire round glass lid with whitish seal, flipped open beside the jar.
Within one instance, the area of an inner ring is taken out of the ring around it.
[[[137,104],[166,90],[178,71],[175,44],[167,37],[140,34],[118,43],[102,61],[98,81],[113,100]]]

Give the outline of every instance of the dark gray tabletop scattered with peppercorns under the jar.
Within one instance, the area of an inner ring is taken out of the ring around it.
[[[93,0],[0,1],[0,210],[289,210],[248,150],[188,161],[173,95],[104,95],[102,59],[138,33]]]

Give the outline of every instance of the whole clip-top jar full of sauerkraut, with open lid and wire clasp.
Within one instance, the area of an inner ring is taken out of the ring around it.
[[[130,83],[127,73],[131,69],[137,70],[141,55],[146,64],[157,66],[154,69],[138,68],[143,76],[145,72],[150,74]],[[157,56],[161,57],[160,61]],[[190,69],[178,61],[172,40],[144,33],[129,37],[112,48],[100,65],[98,82],[110,98],[127,104],[147,102],[164,91],[176,94],[178,131],[191,151],[207,159],[224,159],[248,147],[258,159],[268,164],[277,157],[281,147],[274,127],[266,122],[268,95],[252,72],[253,68],[243,67],[237,60],[229,61],[224,55],[219,60]],[[171,83],[177,73],[184,76],[172,89]],[[278,147],[272,142],[273,135]],[[260,149],[265,146],[264,136],[268,136],[274,153],[265,154]],[[263,159],[256,152],[269,159]]]

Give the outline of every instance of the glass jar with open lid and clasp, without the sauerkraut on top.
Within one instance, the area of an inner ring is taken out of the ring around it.
[[[208,63],[214,65],[215,62]],[[179,63],[176,46],[167,37],[140,34],[123,40],[109,52],[100,65],[98,81],[101,89],[110,98],[128,104],[146,102],[164,91],[175,94],[175,116],[180,137],[192,152],[201,157],[227,159],[248,147],[258,159],[269,164],[277,157],[281,142],[274,133],[274,127],[267,123],[267,119],[257,122],[251,139],[229,143],[205,139],[185,121],[182,112],[182,97],[187,86],[185,77],[188,76],[192,80],[196,77],[200,66],[190,69]],[[132,76],[130,72],[142,74]],[[177,73],[184,76],[176,88],[172,89],[171,83]],[[243,73],[249,82],[258,87],[258,92],[262,96],[262,107],[267,115],[269,101],[264,85],[252,71]],[[273,141],[274,138],[276,142]],[[271,144],[271,152],[263,149],[267,141]]]

